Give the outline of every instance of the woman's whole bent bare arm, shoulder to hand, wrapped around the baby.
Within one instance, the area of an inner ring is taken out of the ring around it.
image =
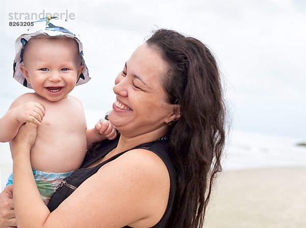
[[[32,142],[29,136],[21,137],[33,131],[27,125],[19,130],[18,146],[13,148],[18,227],[150,227],[161,219],[169,197],[169,174],[157,155],[143,149],[129,151],[100,168],[49,213],[32,174]]]

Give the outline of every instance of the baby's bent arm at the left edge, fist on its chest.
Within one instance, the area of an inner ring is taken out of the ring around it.
[[[20,126],[25,122],[40,125],[44,108],[36,102],[23,103],[22,100],[22,96],[18,97],[0,119],[0,142],[9,142],[15,138]]]

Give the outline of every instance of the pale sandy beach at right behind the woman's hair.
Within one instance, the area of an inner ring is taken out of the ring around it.
[[[306,167],[225,171],[205,228],[305,228]]]

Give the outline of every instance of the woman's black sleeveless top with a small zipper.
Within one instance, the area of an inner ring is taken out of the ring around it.
[[[112,158],[100,163],[99,165],[92,167],[92,168],[86,168],[96,160],[104,157],[114,149],[118,144],[118,139],[109,141],[105,140],[103,141],[98,148],[96,149],[96,152],[94,155],[86,155],[84,162],[80,169],[75,170],[68,178],[65,178],[62,183],[59,185],[57,191],[54,193],[54,195],[50,198],[48,203],[48,209],[50,212],[54,211],[62,201],[64,201],[75,189],[77,189],[86,179],[90,178],[91,175],[95,174],[102,166],[107,164],[108,162],[111,162],[115,160],[116,158],[120,157],[124,153],[126,153],[129,150],[123,151]],[[159,156],[162,161],[165,163],[169,176],[170,176],[170,193],[169,193],[169,199],[168,199],[168,205],[165,211],[165,214],[161,218],[161,220],[154,226],[154,228],[163,228],[166,227],[166,224],[169,220],[171,209],[173,206],[173,200],[175,195],[175,186],[176,186],[176,174],[175,169],[171,160],[171,157],[168,153],[167,148],[168,139],[167,137],[160,138],[154,142],[150,143],[144,143],[141,145],[138,145],[132,149],[141,148],[141,149],[147,149],[155,153],[157,156]],[[128,213],[128,212],[126,212]],[[124,226],[124,228],[128,228],[130,226]]]

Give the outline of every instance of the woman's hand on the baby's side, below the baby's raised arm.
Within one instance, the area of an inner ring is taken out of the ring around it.
[[[24,153],[24,150],[31,151],[37,135],[37,125],[34,123],[24,123],[20,126],[18,134],[10,143],[12,158],[18,153]]]

